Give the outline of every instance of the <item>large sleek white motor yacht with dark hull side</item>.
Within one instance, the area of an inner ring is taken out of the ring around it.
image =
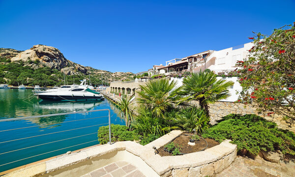
[[[99,93],[95,92],[88,87],[78,87],[74,89],[70,89],[68,91],[51,91],[51,92],[43,92],[43,93],[36,93],[37,97],[41,98],[42,100],[52,100],[52,101],[59,101],[59,100],[104,100],[104,96]]]

